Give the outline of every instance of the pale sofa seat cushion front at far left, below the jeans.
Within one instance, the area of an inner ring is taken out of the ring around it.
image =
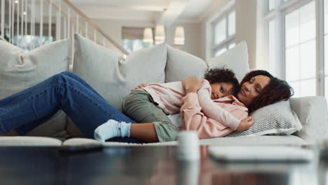
[[[61,146],[60,139],[50,137],[4,136],[0,146]]]

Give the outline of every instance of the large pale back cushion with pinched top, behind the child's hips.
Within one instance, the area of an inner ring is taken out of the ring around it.
[[[137,50],[125,60],[79,34],[75,34],[75,48],[73,71],[119,110],[123,97],[139,83],[165,82],[165,44]]]

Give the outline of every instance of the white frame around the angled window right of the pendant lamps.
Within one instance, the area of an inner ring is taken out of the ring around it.
[[[228,46],[231,45],[232,43],[235,43],[235,34],[229,36],[228,29],[229,29],[229,21],[228,17],[230,13],[235,12],[235,6],[231,6],[228,8],[226,11],[224,11],[218,18],[216,18],[212,22],[212,56],[215,56],[215,53],[217,53],[219,50],[226,48],[228,50]],[[226,39],[221,41],[220,43],[215,44],[215,26],[221,22],[221,20],[226,19]]]

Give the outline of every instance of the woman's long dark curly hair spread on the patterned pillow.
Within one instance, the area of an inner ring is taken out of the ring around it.
[[[261,94],[255,97],[252,104],[247,107],[249,113],[266,105],[274,104],[275,102],[279,102],[281,100],[288,100],[289,97],[294,95],[293,88],[286,81],[275,78],[268,71],[264,70],[250,71],[244,78],[242,78],[240,84],[242,85],[243,83],[250,81],[252,77],[258,75],[268,76],[271,80],[270,83],[268,83],[268,85],[266,85],[266,87],[262,90]]]

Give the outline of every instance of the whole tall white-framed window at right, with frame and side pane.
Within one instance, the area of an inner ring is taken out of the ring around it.
[[[271,0],[267,1],[266,9],[270,10]],[[323,35],[317,35],[320,33],[318,32],[320,27],[323,27],[317,25],[317,22],[320,22],[318,19],[323,15],[316,10],[317,2],[328,0],[287,1],[276,1],[280,2],[279,11],[268,11],[264,17],[267,26],[265,45],[268,46],[266,55],[269,71],[273,72],[275,69],[280,71],[279,74],[282,75],[279,77],[284,78],[294,88],[294,97],[313,95],[328,97],[328,61],[324,63],[317,56],[324,55],[320,52],[323,48],[317,48],[323,47],[318,39]],[[328,8],[328,5],[324,4],[324,8],[326,7]],[[325,16],[328,17],[328,13]],[[327,19],[324,21],[328,22]],[[328,35],[328,27],[324,28],[324,42],[328,43],[326,35]],[[327,48],[325,53],[328,53]],[[324,76],[318,71],[323,70],[323,66],[325,66]],[[320,79],[327,80],[321,83]]]

